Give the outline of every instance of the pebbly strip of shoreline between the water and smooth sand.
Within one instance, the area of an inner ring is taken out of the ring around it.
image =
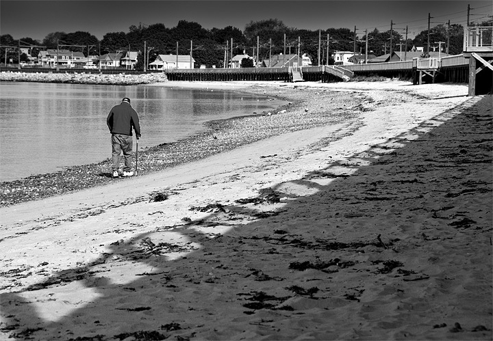
[[[145,150],[140,150],[139,176],[151,172],[159,172],[162,169],[175,167],[183,163],[197,161],[207,156],[238,148],[245,144],[251,144],[253,141],[266,139],[274,135],[286,133],[287,131],[303,130],[309,127],[319,126],[320,124],[333,124],[333,121],[338,119],[338,115],[347,115],[346,113],[338,113],[337,115],[333,115],[333,118],[326,118],[325,116],[327,115],[320,115],[320,110],[318,110],[320,108],[315,108],[314,103],[305,103],[307,100],[303,96],[294,96],[289,91],[284,91],[283,88],[286,87],[286,83],[279,82],[275,85],[273,89],[279,87],[279,91],[274,91],[268,85],[264,89],[259,90],[255,89],[255,85],[258,85],[258,83],[252,82],[246,85],[240,82],[226,84],[164,82],[145,85],[235,91],[280,98],[281,100],[288,101],[290,104],[277,108],[273,114],[270,112],[259,113],[238,116],[227,120],[205,122],[205,132],[180,139],[170,144],[159,144]],[[348,103],[351,103],[350,98],[347,98],[347,100]],[[352,103],[353,105],[357,105],[355,101]],[[324,105],[326,104],[324,103]],[[301,115],[301,106],[305,106],[306,108],[304,110],[310,110],[310,113],[314,116],[309,119],[303,118]],[[345,104],[341,104],[342,107],[345,107]],[[330,109],[329,106],[326,109]],[[260,127],[258,122],[262,120],[264,121],[264,126]],[[291,124],[291,120],[297,120],[298,123],[296,125]],[[249,124],[257,128],[254,131],[250,131]],[[190,149],[194,149],[195,151],[190,152]],[[31,200],[42,200],[53,195],[62,195],[71,191],[108,185],[108,183],[121,180],[111,178],[109,169],[110,159],[106,159],[99,163],[66,166],[58,172],[34,174],[18,180],[0,182],[0,207],[29,202]]]

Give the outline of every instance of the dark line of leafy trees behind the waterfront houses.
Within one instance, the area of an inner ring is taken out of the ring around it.
[[[145,42],[149,62],[153,62],[160,54],[190,55],[190,47],[192,47],[192,56],[197,67],[200,65],[222,67],[224,60],[229,60],[231,53],[237,55],[243,52],[255,57],[258,54],[260,61],[279,53],[300,53],[300,55],[307,53],[312,58],[312,64],[316,65],[319,58],[320,64],[333,64],[331,58],[333,51],[353,51],[356,48],[356,53],[365,53],[366,43],[368,43],[368,53],[375,56],[389,53],[391,49],[405,51],[405,46],[407,51],[412,49],[412,46],[424,46],[427,51],[428,35],[431,36],[431,46],[435,46],[435,42],[446,42],[448,44],[443,44],[442,49],[447,46],[448,53],[451,55],[462,53],[464,27],[458,24],[437,25],[429,32],[421,31],[413,39],[408,38],[405,41],[403,32],[396,30],[374,29],[362,38],[358,38],[355,31],[347,28],[316,31],[296,29],[287,27],[277,18],[251,21],[245,26],[244,31],[232,26],[223,29],[205,29],[199,23],[181,20],[176,27],[166,27],[162,23],[131,25],[128,32],[106,33],[101,41],[85,31],[73,33],[57,31],[49,33],[42,42],[28,37],[14,40],[10,34],[4,34],[0,36],[0,44],[1,46],[38,46],[31,49],[33,57],[36,57],[39,51],[57,49],[58,46],[71,51],[81,51],[86,56],[140,51],[137,67],[142,68]],[[392,46],[390,46],[391,42]],[[0,53],[1,57],[18,63],[18,53],[14,49],[3,47]],[[23,61],[27,61],[26,55],[21,55],[21,62]]]

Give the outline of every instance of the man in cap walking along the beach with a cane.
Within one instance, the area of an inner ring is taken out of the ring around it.
[[[130,98],[123,98],[119,105],[112,107],[106,124],[112,133],[112,169],[113,178],[118,178],[118,168],[120,167],[121,152],[125,158],[123,176],[133,176],[131,169],[132,151],[132,127],[136,133],[136,139],[140,139],[140,124],[137,112],[130,105]]]

